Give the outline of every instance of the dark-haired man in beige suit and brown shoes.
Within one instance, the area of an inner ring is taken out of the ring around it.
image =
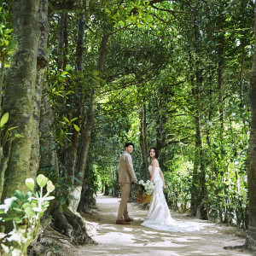
[[[137,177],[133,170],[131,152],[133,143],[125,144],[125,152],[119,158],[119,184],[121,189],[121,201],[119,204],[118,217],[116,224],[130,224],[133,220],[127,212],[127,202],[131,192],[131,183],[137,183]]]

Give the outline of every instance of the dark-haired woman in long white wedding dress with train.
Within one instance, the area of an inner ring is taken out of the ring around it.
[[[149,150],[151,165],[148,167],[150,172],[150,181],[154,182],[153,198],[149,205],[148,215],[143,221],[143,226],[154,230],[165,230],[173,232],[191,232],[201,230],[199,224],[184,223],[174,220],[166,203],[163,193],[163,187],[166,188],[163,173],[160,170],[157,160],[159,153],[157,148]]]

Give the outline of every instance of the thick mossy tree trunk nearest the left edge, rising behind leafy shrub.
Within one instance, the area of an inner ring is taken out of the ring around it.
[[[36,177],[37,170],[30,169],[34,133],[34,106],[37,81],[38,9],[39,0],[14,1],[14,38],[18,48],[12,58],[6,77],[3,108],[9,112],[9,124],[18,126],[23,138],[16,139],[11,148],[2,200],[14,194],[15,189],[27,191],[26,177]]]

